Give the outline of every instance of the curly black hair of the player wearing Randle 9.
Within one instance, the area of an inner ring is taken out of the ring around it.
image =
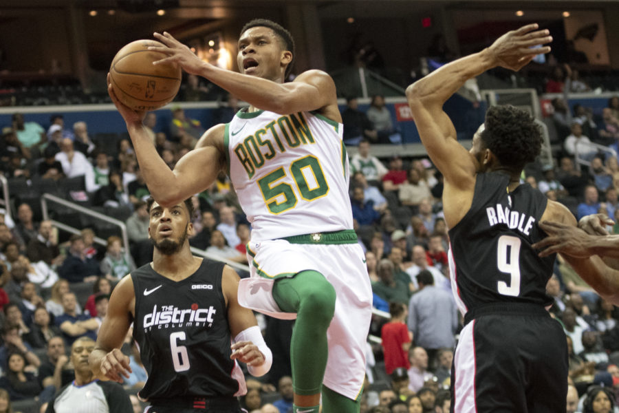
[[[541,151],[541,129],[522,109],[512,105],[492,106],[486,112],[484,126],[480,136],[484,147],[512,172],[522,171]]]

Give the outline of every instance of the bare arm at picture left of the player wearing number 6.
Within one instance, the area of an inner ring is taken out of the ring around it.
[[[96,346],[88,358],[88,363],[97,379],[122,383],[122,377],[129,378],[131,372],[129,357],[122,354],[120,347],[131,326],[133,319],[131,306],[135,305],[134,302],[133,282],[131,275],[127,275],[112,292]]]

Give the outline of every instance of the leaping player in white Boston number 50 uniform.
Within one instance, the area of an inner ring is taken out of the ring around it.
[[[178,63],[251,106],[206,131],[170,171],[144,133],[144,114],[124,107],[110,87],[153,197],[170,206],[204,191],[219,171],[229,173],[253,229],[247,248],[252,277],[241,281],[239,302],[274,317],[296,317],[294,412],[318,412],[321,392],[323,412],[358,412],[371,286],[352,230],[334,81],[309,70],[284,83],[294,42],[264,19],[241,30],[241,73],[201,61],[170,34],[155,37],[165,46],[152,50],[168,55],[159,63]]]

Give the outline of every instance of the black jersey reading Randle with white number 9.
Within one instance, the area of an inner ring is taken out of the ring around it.
[[[545,306],[555,255],[540,258],[531,245],[547,198],[529,184],[508,193],[504,173],[479,173],[470,210],[449,230],[454,295],[465,312],[507,302]],[[454,285],[455,284],[455,285]]]

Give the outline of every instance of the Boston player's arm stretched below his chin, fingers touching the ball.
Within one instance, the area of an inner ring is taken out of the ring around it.
[[[276,83],[265,78],[232,72],[206,63],[167,32],[155,33],[154,36],[165,46],[151,46],[149,50],[168,55],[155,64],[178,63],[185,72],[207,78],[259,109],[278,114],[327,109],[327,113],[323,113],[325,116],[338,122],[341,120],[339,112],[333,110],[334,107],[337,109],[335,83],[331,76],[321,70],[303,72],[290,83]],[[261,38],[260,41],[276,40]],[[252,45],[251,47],[261,47],[261,45]],[[241,53],[243,52],[241,51]],[[284,54],[286,53],[290,54],[290,52],[284,52]],[[283,59],[287,58],[284,56]],[[290,54],[290,59],[292,60],[292,54]]]

